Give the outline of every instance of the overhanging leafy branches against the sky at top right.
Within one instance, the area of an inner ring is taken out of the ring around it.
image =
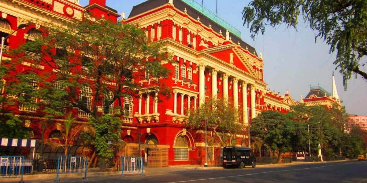
[[[363,70],[367,56],[367,1],[365,0],[252,0],[243,9],[243,25],[250,27],[252,38],[265,26],[273,28],[285,24],[297,29],[302,17],[317,38],[330,45],[329,53],[336,51],[334,64],[343,75],[344,88],[352,74],[367,80]]]

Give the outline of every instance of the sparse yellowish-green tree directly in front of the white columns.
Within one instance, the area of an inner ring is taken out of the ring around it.
[[[221,146],[235,145],[236,135],[245,130],[244,124],[239,122],[238,109],[226,99],[210,98],[197,111],[189,111],[186,117],[186,126],[194,130],[205,129],[206,120],[207,129],[214,132]]]

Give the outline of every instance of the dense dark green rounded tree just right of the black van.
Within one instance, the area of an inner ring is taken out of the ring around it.
[[[264,139],[264,144],[277,151],[277,162],[281,154],[292,149],[292,139],[296,137],[295,125],[290,116],[277,111],[265,111],[252,119],[250,134],[253,139]]]

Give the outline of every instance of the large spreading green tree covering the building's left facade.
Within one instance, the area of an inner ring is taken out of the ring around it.
[[[105,146],[108,141],[116,142],[119,136],[110,133],[119,134],[119,118],[130,115],[125,112],[124,98],[137,96],[139,90],[148,87],[162,96],[168,94],[161,78],[170,73],[164,66],[170,54],[162,43],[148,43],[144,32],[131,24],[100,19],[50,24],[44,29],[43,37],[12,52],[18,64],[31,63],[33,69],[29,73],[36,74],[29,75],[37,89],[25,92],[20,86],[26,86],[29,77],[13,70],[14,89],[8,92],[20,96],[18,102],[41,110],[39,115],[47,118],[63,116],[72,109],[90,116],[89,124],[96,128],[90,140],[98,156],[111,157]],[[149,86],[148,82],[137,82],[143,80],[150,80]],[[117,107],[111,106],[114,103]]]

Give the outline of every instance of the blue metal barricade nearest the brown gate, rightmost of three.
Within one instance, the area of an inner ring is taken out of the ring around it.
[[[140,173],[144,175],[144,158],[143,157],[131,157],[123,156],[121,160],[121,177],[124,176],[124,172]]]

